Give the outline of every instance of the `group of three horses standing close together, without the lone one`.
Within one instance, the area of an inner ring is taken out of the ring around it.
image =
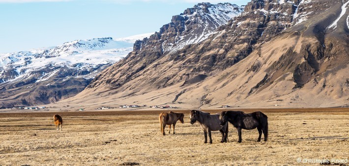
[[[252,130],[257,128],[259,132],[259,137],[257,142],[261,141],[262,133],[264,134],[264,141],[267,141],[268,138],[268,117],[260,111],[253,112],[250,114],[245,114],[242,111],[223,111],[218,114],[210,115],[198,110],[190,111],[190,124],[199,122],[201,128],[204,131],[204,143],[207,143],[207,134],[209,137],[209,143],[212,143],[211,131],[220,131],[222,134],[221,142],[228,141],[228,121],[233,124],[237,129],[239,140],[241,142],[241,129]],[[173,128],[177,122],[184,123],[183,121],[184,114],[182,113],[161,113],[159,115],[160,128],[163,135],[165,135],[165,126],[170,125],[169,129],[171,130],[171,125]],[[173,132],[174,133],[174,132]],[[170,131],[169,131],[170,134]]]

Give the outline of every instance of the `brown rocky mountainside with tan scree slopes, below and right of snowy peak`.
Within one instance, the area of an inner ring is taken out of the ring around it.
[[[347,7],[336,0],[252,0],[200,43],[167,51],[160,47],[165,31],[136,42],[126,59],[66,102],[98,94],[115,105],[347,106]]]

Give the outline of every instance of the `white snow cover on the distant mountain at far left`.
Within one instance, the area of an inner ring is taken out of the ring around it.
[[[129,42],[146,36],[148,35],[142,34],[118,41],[112,38],[75,40],[50,49],[2,53],[0,54],[0,82],[20,80],[45,66],[67,66],[84,70],[97,65],[113,64],[132,51],[133,43]],[[8,76],[7,71],[13,72]],[[42,77],[48,79],[49,75],[51,75],[50,72],[44,73]],[[80,76],[93,78],[95,75],[86,73]]]

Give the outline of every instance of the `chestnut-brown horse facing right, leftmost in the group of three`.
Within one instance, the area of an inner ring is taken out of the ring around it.
[[[175,123],[177,123],[177,120],[179,120],[180,122],[184,123],[184,114],[183,113],[174,113],[172,111],[170,111],[169,113],[161,113],[159,115],[159,121],[160,121],[160,128],[161,128],[161,133],[162,135],[165,135],[165,126],[170,125],[169,126],[169,134],[171,132],[171,124],[173,126],[175,126]]]

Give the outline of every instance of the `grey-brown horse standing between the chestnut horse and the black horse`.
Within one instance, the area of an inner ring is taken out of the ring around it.
[[[219,130],[222,134],[221,142],[227,142],[228,140],[228,123],[221,126],[219,124],[219,114],[210,115],[202,111],[191,110],[190,111],[190,124],[194,124],[196,121],[200,123],[201,128],[204,130],[205,142],[207,143],[207,133],[209,137],[209,143],[212,143],[211,131]]]

